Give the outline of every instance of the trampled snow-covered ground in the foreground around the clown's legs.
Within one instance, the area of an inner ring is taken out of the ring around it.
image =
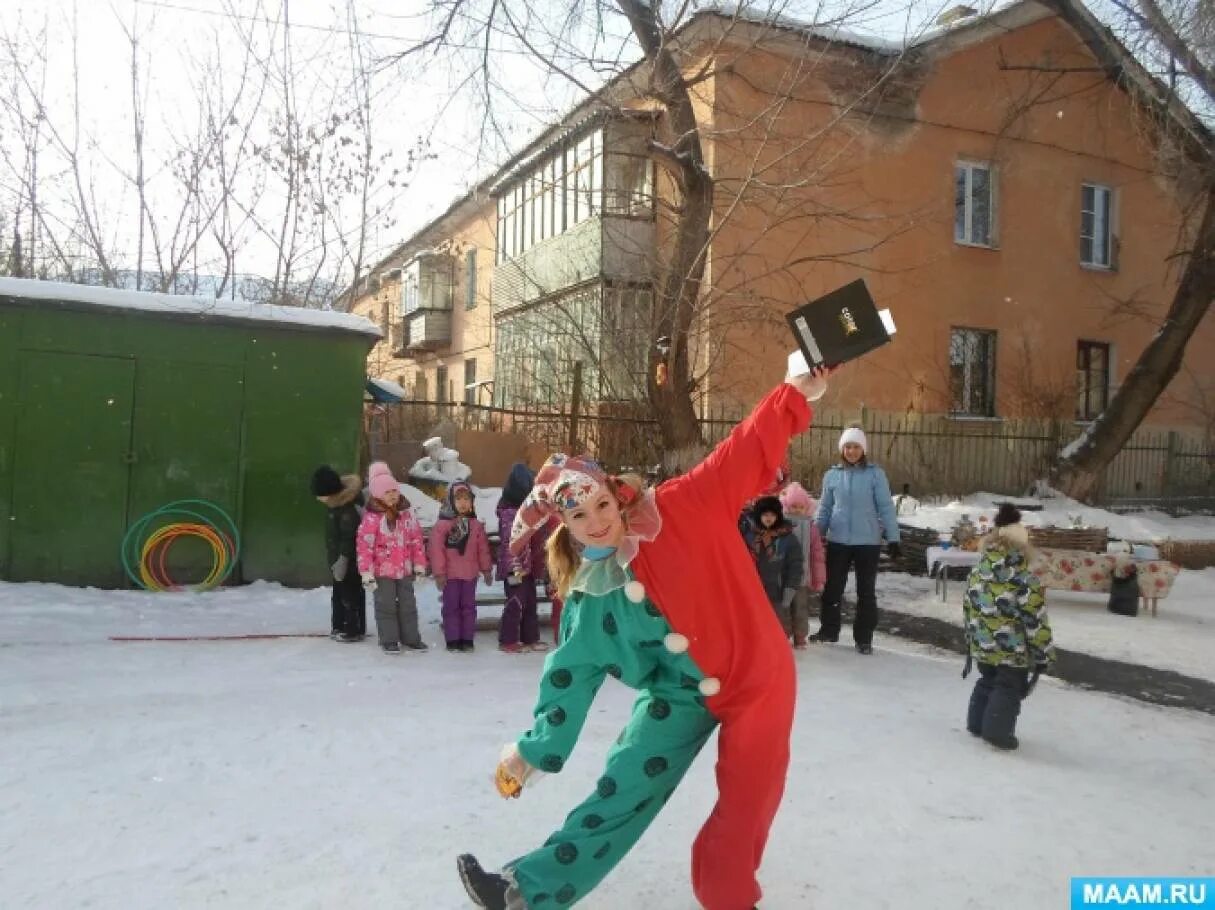
[[[419,597],[437,643],[434,587]],[[530,718],[541,657],[490,635],[475,655],[419,657],[326,638],[108,640],[324,632],[328,609],[324,589],[273,584],[0,584],[4,908],[458,910],[457,853],[507,860],[589,791],[629,693],[609,683],[566,770],[504,803],[488,775]],[[1075,875],[1213,872],[1215,718],[1045,680],[1021,751],[999,753],[962,729],[955,657],[877,644],[798,655],[764,910],[1062,906]],[[580,906],[695,908],[713,748]]]

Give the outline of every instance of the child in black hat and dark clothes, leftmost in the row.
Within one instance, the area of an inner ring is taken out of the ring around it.
[[[363,481],[357,474],[338,475],[328,464],[312,474],[312,496],[327,509],[324,546],[333,575],[329,637],[335,641],[361,641],[367,634],[367,595],[356,565],[358,499]]]

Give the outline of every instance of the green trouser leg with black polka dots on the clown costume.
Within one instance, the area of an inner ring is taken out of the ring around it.
[[[717,727],[700,702],[679,685],[634,702],[595,792],[543,847],[507,864],[530,910],[576,904],[637,843]]]

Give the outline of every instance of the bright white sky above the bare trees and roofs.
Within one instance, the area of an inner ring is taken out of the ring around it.
[[[852,32],[906,40],[922,34],[954,2],[750,4],[764,11],[775,5],[780,5],[784,15],[802,21],[840,21]],[[46,28],[50,40],[45,96],[51,117],[60,121],[70,121],[73,74],[79,72],[81,132],[95,142],[87,149],[95,192],[103,200],[102,208],[118,215],[131,205],[120,176],[129,166],[131,148],[131,51],[126,33],[135,30],[141,35],[149,159],[154,159],[158,153],[163,157],[173,137],[187,130],[197,113],[196,84],[204,78],[199,72],[202,63],[220,49],[222,75],[234,79],[234,69],[243,60],[242,33],[260,30],[269,35],[266,19],[277,18],[281,9],[281,0],[0,0],[0,34],[19,43]],[[473,2],[471,9],[479,9],[477,4]],[[598,68],[577,64],[554,50],[549,34],[554,23],[561,21],[559,12],[569,9],[569,0],[512,2],[509,9],[529,40],[547,55],[555,53],[563,67],[575,67],[588,83],[601,80],[611,70],[608,64]],[[583,11],[584,21],[573,30],[586,47],[600,23],[592,15],[593,2],[580,4],[577,9]],[[984,9],[990,9],[990,2]],[[333,92],[351,81],[350,10],[345,0],[289,0],[288,10],[292,45],[300,64],[301,113],[306,118],[309,106],[323,109]],[[374,205],[385,216],[374,220],[371,237],[374,259],[443,210],[491,171],[508,151],[521,147],[576,103],[582,92],[537,63],[509,35],[498,35],[493,41],[491,83],[486,87],[476,75],[480,26],[475,18],[452,30],[450,39],[456,50],[423,51],[403,61],[395,60],[433,34],[435,17],[425,0],[355,0],[354,12],[368,57],[375,62],[372,79],[375,142],[380,148],[392,148],[401,160],[406,149],[423,140],[430,156],[406,186],[383,186],[377,192]],[[601,24],[605,36],[595,46],[595,56],[627,62],[634,52],[627,23],[618,15],[605,15]],[[78,67],[72,61],[73,30],[79,38]],[[495,102],[492,121],[485,117],[486,94]],[[0,135],[0,142],[4,141],[6,137]],[[261,254],[254,251],[250,256],[243,271],[266,269]]]

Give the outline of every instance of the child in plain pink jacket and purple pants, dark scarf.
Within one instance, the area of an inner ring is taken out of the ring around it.
[[[473,487],[447,487],[439,521],[430,529],[430,567],[443,593],[443,637],[448,651],[471,651],[476,635],[476,576],[493,581],[490,538],[473,511]]]

